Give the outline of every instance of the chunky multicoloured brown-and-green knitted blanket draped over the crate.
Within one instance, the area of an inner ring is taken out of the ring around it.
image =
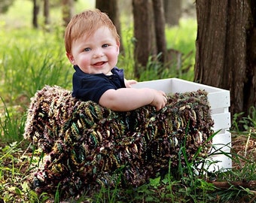
[[[213,121],[207,92],[174,93],[161,111],[145,106],[115,112],[81,102],[59,86],[44,86],[32,98],[24,138],[47,157],[32,176],[40,192],[56,186],[67,196],[101,186],[140,186],[177,168],[200,148],[209,151]]]

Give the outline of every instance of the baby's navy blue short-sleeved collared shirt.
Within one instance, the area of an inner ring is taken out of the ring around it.
[[[120,89],[124,84],[123,69],[114,67],[111,75],[86,74],[74,65],[72,96],[82,101],[93,101],[99,104],[99,98],[108,89]]]

